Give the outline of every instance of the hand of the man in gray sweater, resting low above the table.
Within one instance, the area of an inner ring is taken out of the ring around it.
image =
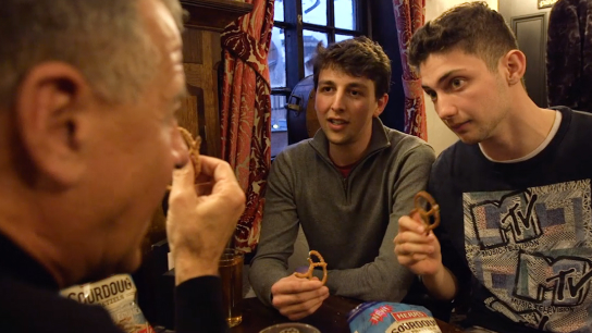
[[[273,307],[289,320],[303,319],[314,313],[329,297],[329,288],[317,278],[300,279],[294,274],[281,279],[271,286]]]

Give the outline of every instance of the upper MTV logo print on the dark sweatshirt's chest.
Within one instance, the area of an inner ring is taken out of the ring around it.
[[[534,209],[539,196],[531,190],[513,192],[498,200],[482,200],[468,206],[481,249],[535,239],[542,235]]]

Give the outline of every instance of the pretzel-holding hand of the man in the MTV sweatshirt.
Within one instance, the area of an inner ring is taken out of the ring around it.
[[[427,234],[419,213],[398,220],[398,233],[393,240],[400,264],[418,275],[435,275],[442,266],[440,242],[433,232]]]

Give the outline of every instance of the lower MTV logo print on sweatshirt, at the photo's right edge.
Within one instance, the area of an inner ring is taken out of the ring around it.
[[[581,257],[521,252],[514,295],[546,306],[580,305],[590,291],[591,268],[592,261]]]

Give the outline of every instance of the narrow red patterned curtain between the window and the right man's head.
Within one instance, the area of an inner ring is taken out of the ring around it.
[[[393,0],[397,24],[400,63],[403,65],[403,90],[405,91],[405,133],[428,140],[425,104],[421,78],[407,62],[407,47],[414,33],[425,20],[425,0]]]

